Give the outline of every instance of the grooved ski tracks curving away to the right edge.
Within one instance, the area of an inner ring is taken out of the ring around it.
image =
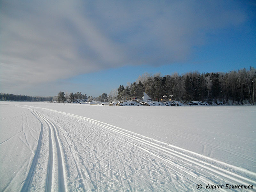
[[[256,181],[254,180],[254,178],[256,177],[256,173],[248,171],[246,169],[236,167],[234,165],[230,165],[230,164],[212,159],[210,157],[206,157],[206,156],[197,154],[195,152],[188,151],[188,150],[176,147],[176,146],[172,146],[170,144],[166,144],[164,142],[157,141],[157,140],[139,135],[137,133],[130,132],[130,131],[124,130],[122,128],[119,128],[119,127],[116,127],[116,126],[113,126],[113,125],[110,125],[110,124],[106,124],[106,123],[103,123],[103,122],[100,122],[100,121],[97,121],[97,120],[94,120],[94,119],[90,119],[90,118],[83,117],[83,116],[77,116],[77,115],[74,115],[74,114],[61,112],[61,111],[56,111],[56,110],[52,110],[52,109],[47,109],[47,108],[44,108],[44,109],[54,111],[54,112],[58,112],[58,113],[62,113],[62,114],[66,114],[68,116],[73,116],[73,117],[76,117],[80,120],[88,121],[90,123],[93,123],[93,124],[96,124],[98,126],[104,127],[104,128],[106,128],[110,131],[121,134],[121,135],[123,135],[123,136],[125,136],[129,139],[135,140],[139,143],[143,143],[144,145],[149,147],[149,151],[150,151],[151,148],[155,148],[157,151],[161,151],[161,152],[164,152],[165,154],[175,156],[175,157],[180,158],[180,159],[182,159],[186,162],[189,162],[191,164],[199,166],[199,167],[211,172],[212,174],[217,174],[221,177],[225,177],[225,178],[227,178],[229,180],[233,180],[237,183],[240,183],[240,184],[243,184],[243,185],[251,185],[251,184],[255,185],[256,184]],[[166,160],[166,159],[165,159],[165,161],[168,162],[168,160]],[[225,167],[228,167],[228,169],[226,169]],[[242,172],[244,174],[247,174],[252,179],[244,177],[240,174],[236,174],[235,172],[240,172],[240,173]]]

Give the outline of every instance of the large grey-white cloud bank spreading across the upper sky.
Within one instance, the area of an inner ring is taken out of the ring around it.
[[[183,62],[209,34],[246,19],[223,1],[2,1],[0,17],[7,91],[124,65]]]

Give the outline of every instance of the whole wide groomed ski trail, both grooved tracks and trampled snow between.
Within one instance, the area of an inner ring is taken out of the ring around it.
[[[207,184],[224,185],[215,191],[227,191],[226,184],[256,186],[256,173],[195,152],[86,117],[19,107],[41,124],[21,191],[198,191],[197,184],[203,186],[200,191],[210,191]]]

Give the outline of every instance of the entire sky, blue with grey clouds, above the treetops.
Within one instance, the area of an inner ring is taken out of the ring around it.
[[[144,73],[256,67],[255,1],[1,1],[0,91],[94,97]]]

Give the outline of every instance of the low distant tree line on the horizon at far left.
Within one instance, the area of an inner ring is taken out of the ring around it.
[[[27,95],[15,95],[9,93],[0,93],[2,101],[51,101],[52,97],[32,97]]]

